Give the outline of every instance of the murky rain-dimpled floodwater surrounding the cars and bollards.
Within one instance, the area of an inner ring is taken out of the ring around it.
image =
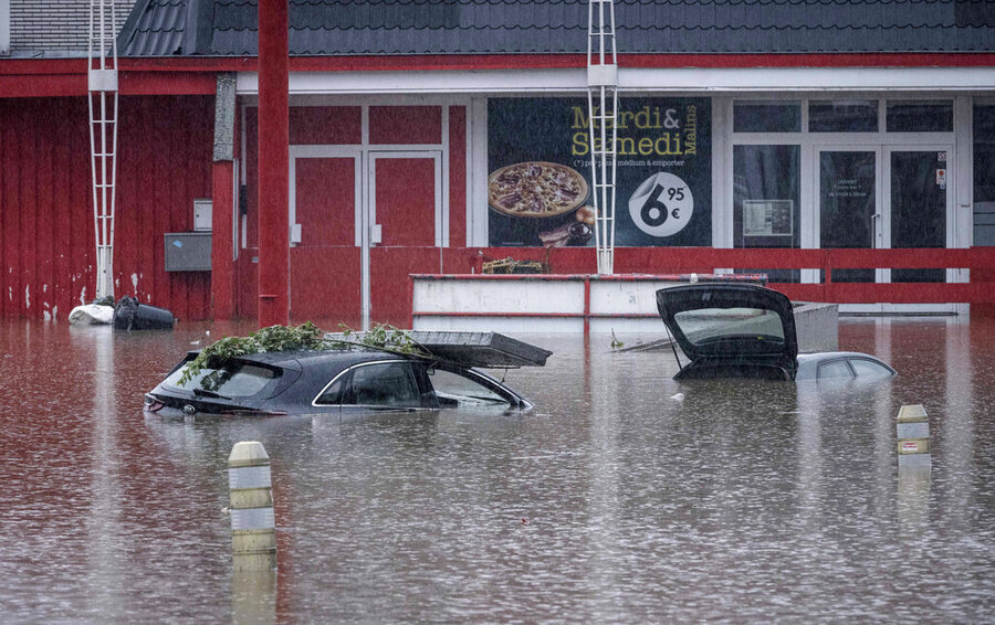
[[[867,385],[677,383],[669,351],[543,336],[547,367],[507,373],[524,415],[143,414],[192,341],[237,329],[0,325],[0,618],[993,617],[995,324],[845,320],[841,349],[900,372]],[[928,477],[896,457],[917,403]],[[275,575],[231,572],[245,439],[272,458]]]

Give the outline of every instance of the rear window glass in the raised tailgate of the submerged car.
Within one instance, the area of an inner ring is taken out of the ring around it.
[[[695,346],[726,339],[784,343],[781,317],[766,308],[698,308],[673,316],[681,332]]]

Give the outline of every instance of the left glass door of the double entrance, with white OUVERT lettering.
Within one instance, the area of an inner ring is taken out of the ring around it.
[[[877,147],[817,147],[815,181],[818,247],[884,247],[881,206],[881,158]],[[835,283],[873,283],[883,276],[874,267],[834,269]],[[825,276],[824,276],[825,279]],[[873,312],[878,305],[855,305]]]

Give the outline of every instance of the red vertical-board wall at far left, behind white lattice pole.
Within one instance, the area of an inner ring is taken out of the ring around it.
[[[2,315],[65,319],[94,297],[86,99],[0,99]],[[181,319],[209,314],[208,272],[166,273],[163,234],[192,227],[210,197],[213,97],[121,97],[115,296]]]

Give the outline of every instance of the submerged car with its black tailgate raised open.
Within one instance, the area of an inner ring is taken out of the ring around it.
[[[688,356],[674,380],[887,378],[894,370],[856,352],[798,354],[792,301],[753,284],[703,283],[657,292],[657,309]]]

